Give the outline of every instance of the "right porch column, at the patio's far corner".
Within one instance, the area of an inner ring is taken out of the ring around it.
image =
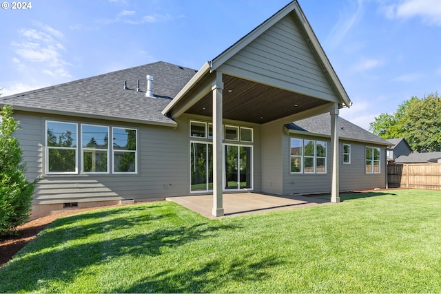
[[[332,184],[331,202],[340,202],[338,167],[340,157],[338,156],[338,105],[331,110],[331,145],[332,145]]]

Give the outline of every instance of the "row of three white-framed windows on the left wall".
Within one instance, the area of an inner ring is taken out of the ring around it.
[[[109,174],[110,158],[113,174],[137,173],[136,129],[80,125],[46,121],[46,174]]]

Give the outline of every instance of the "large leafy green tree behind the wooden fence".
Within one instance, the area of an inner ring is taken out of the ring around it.
[[[394,114],[380,114],[369,129],[384,139],[405,138],[414,151],[441,151],[441,98],[438,93],[414,96]]]

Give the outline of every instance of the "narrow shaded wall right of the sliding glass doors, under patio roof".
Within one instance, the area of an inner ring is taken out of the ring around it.
[[[262,127],[262,191],[283,193],[283,126],[272,123]]]

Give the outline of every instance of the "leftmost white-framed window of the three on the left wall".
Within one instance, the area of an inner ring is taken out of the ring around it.
[[[78,124],[46,120],[46,174],[78,174]]]

